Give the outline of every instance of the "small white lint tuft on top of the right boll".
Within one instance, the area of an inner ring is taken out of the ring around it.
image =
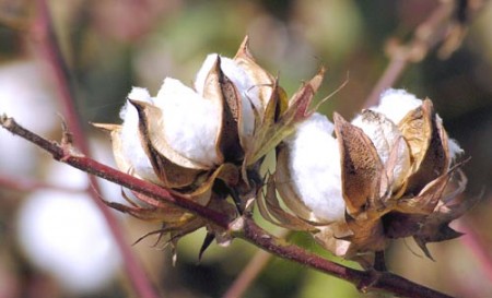
[[[387,90],[380,95],[379,105],[371,107],[372,110],[385,115],[395,124],[412,109],[422,106],[422,100],[405,90]]]

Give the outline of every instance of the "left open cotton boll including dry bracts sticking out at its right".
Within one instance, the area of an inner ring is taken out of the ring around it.
[[[323,75],[321,69],[289,100],[278,79],[256,62],[246,37],[233,59],[209,55],[192,87],[172,78],[156,96],[133,87],[120,111],[122,124],[95,126],[110,132],[121,171],[234,217],[236,208],[224,199],[234,194],[241,212],[256,195],[265,155],[311,115]],[[110,206],[161,222],[172,236],[207,225],[141,193],[127,196],[130,205]]]

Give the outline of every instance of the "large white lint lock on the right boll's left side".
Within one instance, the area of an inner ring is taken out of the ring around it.
[[[342,220],[345,203],[341,193],[340,153],[332,136],[333,123],[314,114],[298,124],[285,142],[291,152],[289,169],[304,204],[324,220]]]

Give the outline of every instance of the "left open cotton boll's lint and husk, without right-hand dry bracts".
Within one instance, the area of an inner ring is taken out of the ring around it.
[[[212,187],[218,179],[231,188],[239,183],[245,153],[255,126],[262,122],[273,85],[245,38],[234,59],[207,57],[194,88],[171,78],[155,97],[134,87],[120,112],[122,124],[95,126],[110,131],[120,170],[234,216],[226,201],[211,202],[216,196]],[[178,207],[136,192],[128,196],[131,205],[112,206],[163,222],[167,230],[200,226]]]

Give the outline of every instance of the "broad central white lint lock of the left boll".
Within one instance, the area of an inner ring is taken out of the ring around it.
[[[154,105],[162,110],[164,138],[173,150],[204,166],[221,163],[215,150],[219,106],[171,78],[164,80]]]

